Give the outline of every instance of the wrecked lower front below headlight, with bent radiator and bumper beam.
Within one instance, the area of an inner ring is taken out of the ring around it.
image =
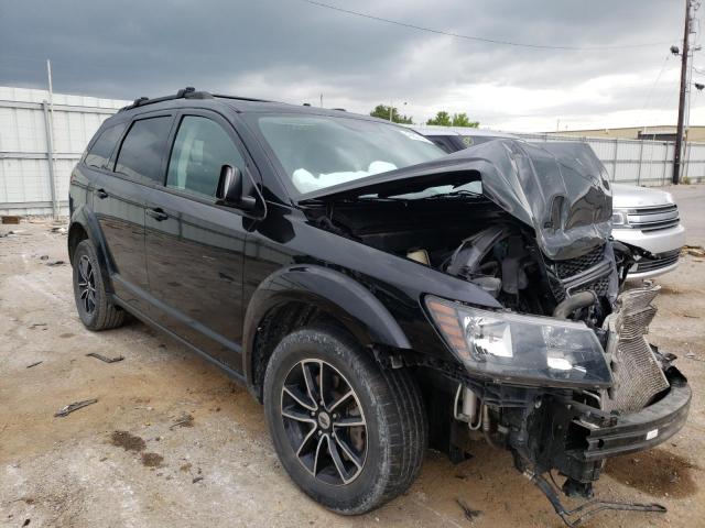
[[[566,496],[592,498],[593,483],[606,459],[652,448],[685,424],[691,388],[673,366],[674,356],[661,353],[644,339],[655,315],[651,301],[658,289],[647,286],[621,294],[615,311],[605,319],[611,385],[601,389],[525,389],[514,394],[509,405],[478,398],[485,394],[481,385],[460,385],[455,417],[467,422],[467,428],[454,429],[455,442],[467,449],[474,431],[481,430],[492,446],[511,450],[517,469],[541,488],[568,526],[601,509],[665,512],[655,504],[603,501],[568,512],[558,499],[552,476],[555,470],[565,477],[560,491]],[[525,397],[523,405],[518,395]]]

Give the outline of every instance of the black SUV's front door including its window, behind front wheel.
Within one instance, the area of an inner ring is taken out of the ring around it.
[[[220,363],[241,371],[246,230],[216,206],[220,167],[252,167],[232,127],[206,110],[182,111],[164,185],[147,202],[151,317]]]

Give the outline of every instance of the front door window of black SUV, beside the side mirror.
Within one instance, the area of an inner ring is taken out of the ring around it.
[[[223,165],[245,168],[242,156],[226,131],[209,119],[185,117],[169,162],[166,186],[215,196]]]

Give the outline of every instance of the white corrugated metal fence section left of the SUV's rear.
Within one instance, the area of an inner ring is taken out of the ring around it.
[[[51,102],[47,90],[0,87],[1,215],[50,215],[52,198],[67,215],[72,168],[100,123],[129,103],[63,94]]]

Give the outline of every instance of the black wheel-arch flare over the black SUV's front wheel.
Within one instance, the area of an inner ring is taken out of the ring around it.
[[[399,323],[361,284],[323,266],[289,266],[267,277],[249,301],[242,339],[242,372],[248,383],[252,380],[252,350],[258,327],[272,308],[290,301],[305,302],[330,314],[361,344],[411,349]]]

